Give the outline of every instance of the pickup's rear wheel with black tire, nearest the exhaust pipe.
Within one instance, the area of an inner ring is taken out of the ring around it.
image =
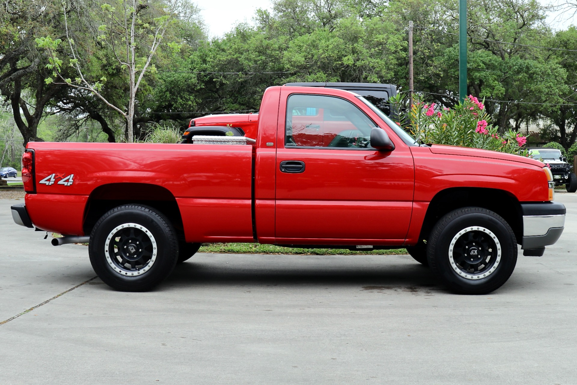
[[[96,222],[88,254],[92,268],[113,289],[146,291],[174,269],[178,237],[168,219],[144,205],[122,205]]]

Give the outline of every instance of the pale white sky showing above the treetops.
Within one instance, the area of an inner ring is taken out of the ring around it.
[[[560,3],[563,0],[539,0],[543,5]],[[222,36],[230,31],[233,25],[247,21],[252,23],[254,12],[258,8],[271,9],[270,0],[200,0],[198,6],[212,38]],[[577,17],[568,17],[567,12],[555,12],[548,17],[548,23],[554,29],[565,29],[577,25]]]

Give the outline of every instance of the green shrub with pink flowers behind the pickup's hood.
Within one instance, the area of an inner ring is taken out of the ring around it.
[[[399,104],[400,98],[392,99],[392,102]],[[396,120],[398,125],[425,143],[460,145],[527,156],[527,151],[522,149],[527,138],[513,130],[503,135],[497,133],[497,128],[490,124],[485,105],[473,95],[454,109],[445,107],[442,111],[436,109],[435,103],[426,104],[417,100],[411,106],[409,117]]]

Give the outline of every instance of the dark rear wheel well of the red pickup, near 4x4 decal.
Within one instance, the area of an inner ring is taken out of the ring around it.
[[[148,183],[110,183],[100,185],[89,195],[84,208],[83,231],[89,235],[98,219],[123,204],[143,204],[155,208],[183,231],[178,203],[167,188]]]

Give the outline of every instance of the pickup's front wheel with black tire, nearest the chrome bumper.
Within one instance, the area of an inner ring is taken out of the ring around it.
[[[456,293],[499,289],[515,269],[517,242],[507,222],[479,207],[449,212],[428,240],[429,267]]]

